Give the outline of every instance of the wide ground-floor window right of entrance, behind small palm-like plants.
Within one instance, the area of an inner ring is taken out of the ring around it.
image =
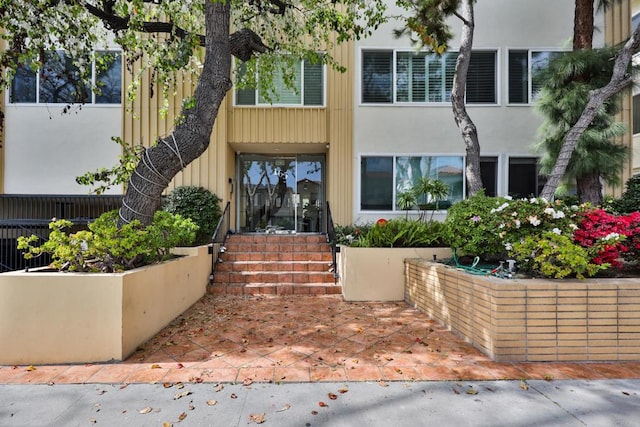
[[[410,190],[422,177],[438,179],[449,186],[448,198],[440,206],[462,200],[462,156],[366,156],[360,161],[360,209],[400,210],[397,205],[400,193]]]

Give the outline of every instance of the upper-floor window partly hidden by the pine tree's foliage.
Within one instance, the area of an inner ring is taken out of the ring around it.
[[[542,86],[537,71],[546,68],[561,51],[509,51],[509,104],[528,104]]]

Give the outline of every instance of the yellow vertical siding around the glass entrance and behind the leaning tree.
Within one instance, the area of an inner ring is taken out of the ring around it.
[[[238,189],[235,182],[236,150],[277,154],[284,153],[282,147],[286,149],[289,145],[288,154],[327,153],[327,200],[331,203],[336,223],[351,223],[353,77],[350,70],[353,66],[353,45],[346,43],[338,47],[335,56],[349,71],[327,70],[325,107],[235,107],[233,94],[229,92],[220,106],[209,148],[173,179],[168,191],[180,185],[199,185],[216,193],[223,203],[233,202]],[[179,115],[181,100],[192,93],[195,84],[195,78],[178,79],[181,83],[170,100],[166,118],[163,118],[160,117],[163,99],[158,93],[151,97],[149,79],[147,73],[138,97],[124,109],[123,136],[128,143],[149,146],[158,137],[169,134],[175,117]],[[131,75],[127,74],[124,87],[131,81]],[[230,193],[229,178],[234,180],[233,194]]]

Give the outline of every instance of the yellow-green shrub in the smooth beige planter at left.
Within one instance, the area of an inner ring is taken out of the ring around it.
[[[19,237],[18,249],[26,251],[26,259],[51,254],[51,266],[58,270],[115,272],[169,258],[169,250],[191,244],[198,229],[190,219],[163,211],[146,227],[134,220],[118,228],[117,210],[102,214],[89,230],[68,234],[64,230],[71,225],[68,220],[53,221],[48,241],[34,246],[37,236]]]

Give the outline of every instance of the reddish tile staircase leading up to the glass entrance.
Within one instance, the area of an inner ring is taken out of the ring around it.
[[[325,295],[342,289],[324,234],[234,234],[218,253],[209,293]]]

